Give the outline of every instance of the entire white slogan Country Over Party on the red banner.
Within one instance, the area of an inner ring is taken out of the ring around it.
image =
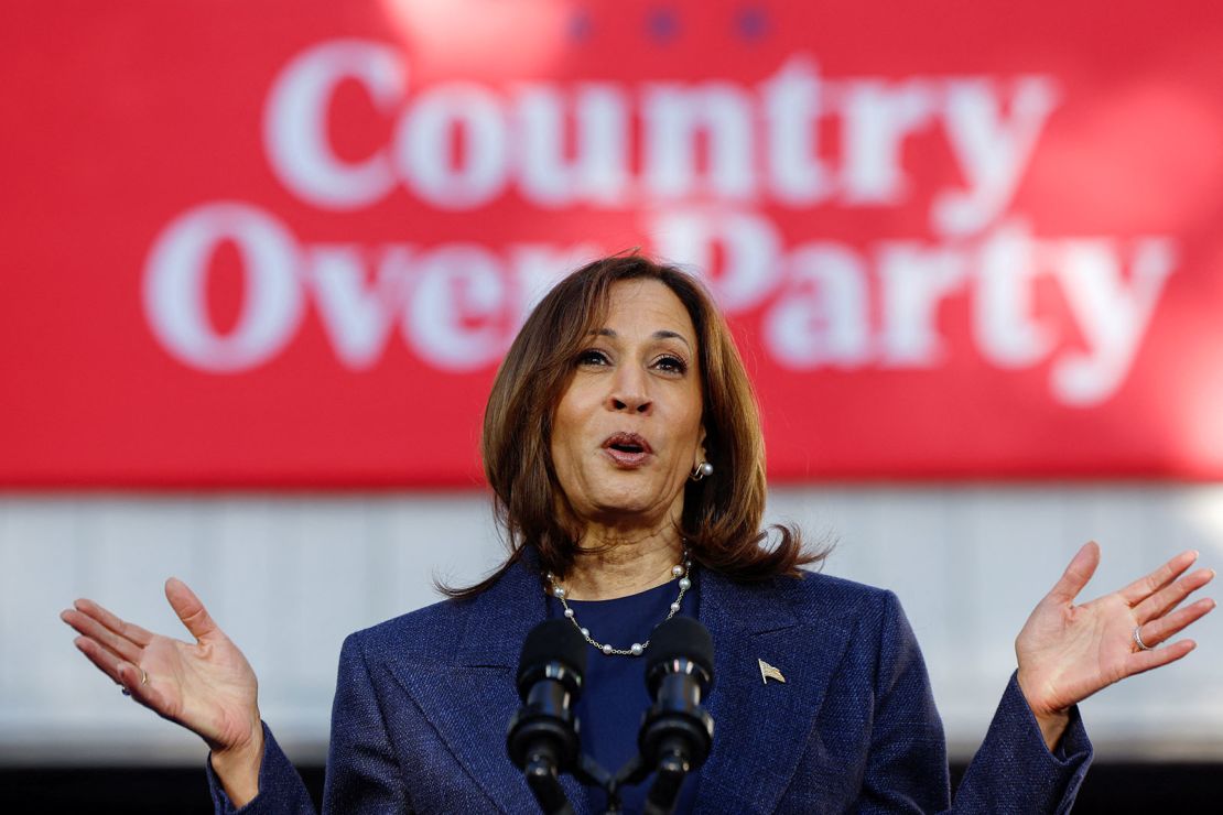
[[[284,186],[324,210],[383,203],[396,189],[435,210],[506,196],[542,209],[648,213],[668,259],[704,271],[726,313],[757,312],[764,351],[793,370],[934,370],[953,348],[951,302],[986,364],[1047,365],[1049,392],[1090,407],[1124,384],[1177,247],[1167,237],[1041,237],[1008,215],[1058,104],[1052,77],[829,79],[791,55],[762,82],[470,81],[410,88],[395,48],[340,39],[307,49],[273,82],[264,147]],[[331,145],[333,98],[360,84],[389,142],[360,160]],[[833,150],[822,149],[822,133]],[[905,156],[943,138],[958,177],[917,189]],[[459,149],[456,149],[456,147]],[[929,239],[786,246],[766,208],[901,206],[928,200]],[[236,325],[219,331],[207,280],[216,249],[242,259]],[[305,243],[257,206],[202,204],[157,238],[144,308],[183,364],[249,370],[297,336],[312,303],[336,359],[368,370],[404,342],[446,371],[493,364],[543,292],[591,244],[432,247]],[[1053,287],[1073,325],[1037,310]],[[964,349],[956,349],[964,352]]]

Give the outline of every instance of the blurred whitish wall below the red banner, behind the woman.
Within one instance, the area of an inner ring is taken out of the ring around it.
[[[770,517],[835,540],[828,573],[900,595],[960,758],[1014,667],[1015,633],[1084,540],[1104,545],[1085,598],[1185,547],[1223,565],[1223,485],[785,488]],[[472,579],[499,554],[473,494],[0,497],[0,762],[204,755],[77,654],[57,618],[73,598],[181,632],[161,583],[183,578],[256,666],[290,755],[322,761],[344,635],[432,602],[434,574]],[[1217,613],[1188,660],[1084,705],[1101,759],[1223,759],[1221,634]]]

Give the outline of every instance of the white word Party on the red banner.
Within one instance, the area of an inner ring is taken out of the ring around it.
[[[757,269],[783,270],[780,280],[746,299],[755,304],[778,285],[777,297],[766,305],[763,338],[769,356],[783,365],[937,368],[947,356],[939,305],[966,296],[972,340],[986,360],[1010,369],[1052,362],[1051,392],[1076,407],[1098,404],[1124,382],[1163,283],[1175,269],[1167,238],[1136,239],[1126,264],[1119,241],[1037,239],[1020,221],[1004,221],[981,241],[960,246],[882,241],[860,253],[812,242],[786,254],[763,216],[673,213],[659,219],[660,244],[691,253],[685,257],[708,258],[711,248],[698,239],[712,243],[736,233],[752,235],[756,250],[724,253],[728,268],[711,288],[720,297],[728,281],[734,291],[735,281],[761,280]],[[682,242],[675,242],[676,236]],[[746,270],[736,268],[740,263]],[[1065,293],[1075,325],[1064,336],[1055,336],[1032,309],[1037,279]],[[734,297],[720,302],[729,312],[741,310]],[[1086,338],[1086,351],[1077,347],[1074,329]]]

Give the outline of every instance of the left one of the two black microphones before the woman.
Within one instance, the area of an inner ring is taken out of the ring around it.
[[[544,813],[574,811],[558,775],[577,765],[574,707],[585,673],[586,640],[569,619],[548,619],[527,634],[517,674],[522,707],[505,744]]]

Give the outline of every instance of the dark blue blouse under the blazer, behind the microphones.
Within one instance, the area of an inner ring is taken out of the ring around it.
[[[679,613],[697,616],[696,569],[692,571],[692,588],[684,595]],[[615,600],[570,600],[574,618],[589,629],[591,637],[615,648],[629,648],[645,643],[654,626],[663,622],[670,605],[679,594],[679,582],[631,594]],[[561,617],[564,609],[555,598],[548,599],[548,616]],[[646,689],[646,659],[641,656],[608,656],[587,646],[586,682],[577,701],[578,733],[582,750],[598,761],[603,769],[615,775],[637,754],[637,729],[646,710],[649,709],[649,692]],[[635,787],[621,789],[625,813],[641,813],[646,794],[653,783],[651,775]],[[690,773],[675,800],[676,813],[691,813],[696,800],[697,773]],[[602,789],[587,788],[591,811],[607,809],[607,794]]]

